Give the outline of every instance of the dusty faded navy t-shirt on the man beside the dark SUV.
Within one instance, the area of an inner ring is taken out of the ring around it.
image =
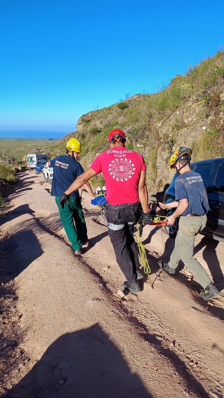
[[[175,200],[188,199],[189,206],[182,215],[205,215],[210,209],[202,176],[197,172],[185,172],[175,179]]]

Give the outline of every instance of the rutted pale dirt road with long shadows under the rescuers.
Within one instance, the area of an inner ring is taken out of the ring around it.
[[[153,289],[145,277],[139,295],[121,298],[124,276],[90,197],[78,257],[50,191],[42,175],[20,174],[1,220],[1,396],[223,397],[223,291],[206,303],[186,269],[161,271],[174,242],[145,226]],[[223,289],[224,244],[198,235],[195,253]]]

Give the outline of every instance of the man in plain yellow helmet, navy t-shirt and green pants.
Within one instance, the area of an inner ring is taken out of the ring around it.
[[[77,162],[81,153],[81,144],[77,139],[70,138],[66,148],[66,155],[57,156],[57,158],[48,162],[54,171],[51,196],[55,196],[61,222],[75,254],[81,254],[82,245],[87,243],[88,237],[79,191],[71,193],[63,209],[59,205],[60,197],[63,196],[75,179],[84,173],[81,164]],[[92,198],[95,197],[88,182],[83,187]]]

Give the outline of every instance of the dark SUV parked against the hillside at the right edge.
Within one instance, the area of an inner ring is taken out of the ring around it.
[[[190,164],[191,170],[198,172],[205,183],[210,211],[207,214],[208,221],[202,235],[224,242],[224,158],[201,160]],[[165,191],[164,203],[175,200],[175,179],[173,177],[169,188]],[[167,209],[166,215],[173,214],[175,209]],[[166,227],[169,236],[175,237],[178,230],[178,219],[174,225]]]

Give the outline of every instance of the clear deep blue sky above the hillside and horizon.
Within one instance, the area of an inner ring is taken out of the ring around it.
[[[0,130],[69,133],[224,43],[224,2],[1,0]]]

